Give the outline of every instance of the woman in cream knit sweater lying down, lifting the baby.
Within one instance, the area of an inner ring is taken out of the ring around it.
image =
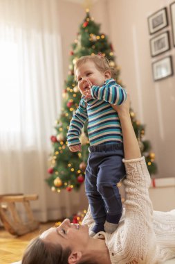
[[[91,238],[90,210],[82,225],[64,220],[30,243],[22,264],[154,264],[175,257],[175,210],[154,212],[149,199],[150,176],[141,157],[129,115],[129,99],[118,110],[123,132],[127,199],[118,229]]]

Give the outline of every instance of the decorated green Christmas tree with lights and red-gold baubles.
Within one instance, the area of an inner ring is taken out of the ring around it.
[[[62,113],[59,119],[55,121],[56,133],[50,137],[53,152],[50,155],[49,176],[46,181],[50,185],[51,190],[55,192],[60,192],[61,189],[66,189],[67,191],[73,189],[78,190],[84,182],[89,147],[86,126],[80,136],[82,152],[73,153],[69,151],[66,142],[66,133],[73,113],[77,109],[81,98],[80,91],[74,79],[73,69],[75,62],[81,56],[97,53],[102,53],[103,56],[108,58],[110,66],[116,70],[116,82],[123,87],[120,81],[120,67],[115,62],[113,46],[109,42],[107,35],[100,33],[100,24],[96,24],[93,21],[93,17],[90,17],[89,10],[86,10],[86,17],[82,24],[80,24],[80,31],[77,33],[77,38],[74,40],[70,51],[69,71],[62,93]],[[148,170],[150,174],[155,174],[155,155],[153,152],[150,152],[151,145],[149,141],[144,140],[145,126],[138,122],[132,109],[130,115],[140,150],[147,161]]]

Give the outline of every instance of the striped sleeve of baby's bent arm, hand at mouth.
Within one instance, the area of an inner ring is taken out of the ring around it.
[[[114,79],[108,79],[102,87],[91,87],[93,99],[101,99],[110,104],[120,105],[127,99],[127,92],[116,83]]]

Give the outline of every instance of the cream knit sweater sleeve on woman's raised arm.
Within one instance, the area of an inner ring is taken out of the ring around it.
[[[125,224],[120,245],[125,263],[156,263],[156,236],[153,226],[153,207],[149,199],[151,182],[145,158],[123,160],[125,180]],[[113,238],[115,239],[115,238]]]

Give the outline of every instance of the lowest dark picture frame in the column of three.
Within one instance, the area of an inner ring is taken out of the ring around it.
[[[172,56],[167,56],[152,63],[154,81],[165,79],[173,75]]]

